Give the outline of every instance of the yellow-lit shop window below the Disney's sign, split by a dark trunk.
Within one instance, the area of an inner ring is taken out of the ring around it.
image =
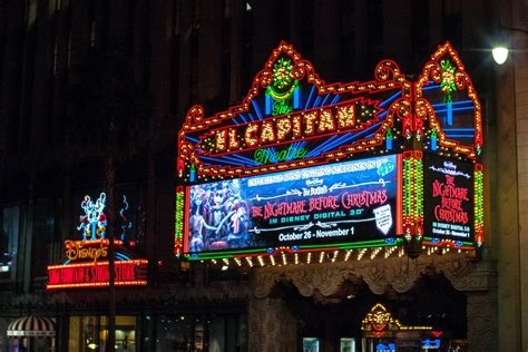
[[[71,316],[68,351],[106,351],[107,336],[106,316]],[[136,351],[136,316],[116,316],[116,351]]]

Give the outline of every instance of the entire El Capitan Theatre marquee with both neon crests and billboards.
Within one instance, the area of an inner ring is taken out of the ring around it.
[[[415,82],[384,60],[371,81],[330,85],[282,42],[241,105],[187,113],[175,254],[263,266],[475,251],[480,114],[449,42]]]

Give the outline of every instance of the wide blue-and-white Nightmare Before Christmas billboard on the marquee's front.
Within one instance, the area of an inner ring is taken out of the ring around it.
[[[185,252],[394,237],[399,160],[387,155],[190,186]]]

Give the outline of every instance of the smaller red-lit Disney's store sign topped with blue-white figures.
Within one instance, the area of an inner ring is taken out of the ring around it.
[[[47,290],[100,287],[109,285],[108,246],[106,238],[107,218],[104,213],[106,194],[101,193],[96,202],[90,196],[85,196],[81,208],[85,214],[80,216],[78,231],[82,233],[81,241],[65,241],[63,264],[48,266]],[[131,222],[125,214],[128,209],[127,198],[123,198],[119,211],[121,228],[119,237],[114,241],[116,252],[115,284],[117,286],[146,285],[148,261],[137,258],[129,251],[123,239]]]

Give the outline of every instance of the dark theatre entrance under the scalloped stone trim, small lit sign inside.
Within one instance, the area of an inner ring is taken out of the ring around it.
[[[466,295],[442,274],[422,275],[405,293],[370,291],[345,281],[331,296],[310,297],[291,283],[276,287],[297,322],[297,351],[465,351]]]

